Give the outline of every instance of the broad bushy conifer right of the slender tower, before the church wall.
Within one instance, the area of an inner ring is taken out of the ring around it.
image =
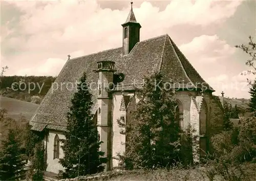
[[[155,74],[145,78],[143,88],[136,90],[139,102],[125,127],[126,149],[120,155],[126,169],[168,167],[179,159],[177,102],[162,80]]]

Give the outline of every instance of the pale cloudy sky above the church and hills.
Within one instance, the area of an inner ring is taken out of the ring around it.
[[[220,95],[249,98],[249,58],[234,48],[256,40],[256,1],[133,1],[140,40],[168,34]],[[1,1],[6,76],[57,76],[68,59],[122,46],[130,1]]]

